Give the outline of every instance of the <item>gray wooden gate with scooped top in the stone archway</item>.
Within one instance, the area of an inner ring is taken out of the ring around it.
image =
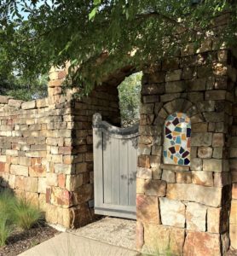
[[[138,125],[119,128],[93,116],[95,213],[136,219]]]

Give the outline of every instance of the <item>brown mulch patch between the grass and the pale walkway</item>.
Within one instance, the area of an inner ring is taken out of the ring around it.
[[[0,256],[16,256],[57,234],[60,234],[60,232],[47,224],[41,224],[26,231],[16,230],[9,237],[7,245],[0,247]]]

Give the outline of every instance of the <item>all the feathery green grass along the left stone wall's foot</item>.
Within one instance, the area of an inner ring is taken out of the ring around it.
[[[43,218],[30,201],[17,199],[9,190],[0,192],[0,247],[6,245],[15,228],[29,230]]]

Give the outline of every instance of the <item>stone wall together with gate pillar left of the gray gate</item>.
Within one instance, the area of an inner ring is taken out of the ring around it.
[[[62,94],[66,72],[51,69],[49,97],[21,102],[0,96],[0,184],[46,212],[49,223],[74,228],[95,219],[92,115],[118,125],[116,86],[90,97]]]

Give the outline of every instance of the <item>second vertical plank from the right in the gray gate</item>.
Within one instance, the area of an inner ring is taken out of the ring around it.
[[[119,140],[119,166],[120,166],[120,205],[129,204],[129,183],[128,183],[128,140]]]

